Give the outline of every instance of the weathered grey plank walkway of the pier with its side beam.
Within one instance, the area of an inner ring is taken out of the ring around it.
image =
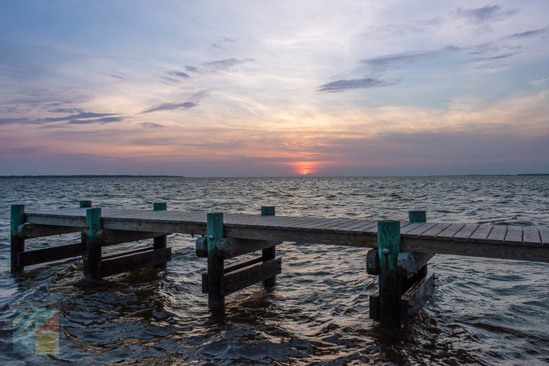
[[[207,212],[103,208],[102,227],[111,230],[206,233]],[[25,222],[87,228],[86,208],[25,212]],[[401,248],[515,260],[549,262],[549,228],[475,223],[401,221]],[[377,221],[367,219],[224,214],[227,237],[352,247],[377,246]]]

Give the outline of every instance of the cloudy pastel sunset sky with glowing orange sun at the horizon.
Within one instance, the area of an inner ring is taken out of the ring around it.
[[[549,1],[1,1],[0,175],[549,173]]]

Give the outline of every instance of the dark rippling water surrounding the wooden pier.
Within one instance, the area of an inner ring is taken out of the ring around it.
[[[366,250],[286,243],[283,272],[266,291],[251,286],[227,297],[211,317],[200,293],[205,258],[194,239],[169,239],[166,271],[124,273],[101,286],[82,281],[67,260],[9,273],[9,205],[94,206],[549,225],[549,177],[427,178],[95,178],[0,180],[0,364],[47,365],[549,365],[549,265],[436,256],[437,288],[407,328],[382,330],[368,319],[377,277]],[[73,243],[54,236],[38,249]],[[122,245],[130,247],[131,245]],[[16,308],[60,310],[60,353],[12,352]]]

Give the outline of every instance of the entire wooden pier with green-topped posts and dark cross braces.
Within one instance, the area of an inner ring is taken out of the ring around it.
[[[434,289],[427,263],[434,254],[454,254],[549,263],[549,228],[473,223],[427,222],[425,211],[410,211],[408,221],[290,217],[264,206],[260,215],[240,213],[79,208],[25,212],[12,206],[12,273],[53,260],[84,257],[90,280],[141,267],[165,267],[171,259],[166,237],[200,235],[196,255],[208,258],[202,291],[212,310],[224,296],[250,284],[273,286],[281,273],[275,247],[283,242],[375,248],[365,256],[367,271],[379,276],[379,293],[371,296],[370,315],[382,324],[407,324]],[[25,239],[81,232],[81,241],[25,251]],[[102,247],[153,239],[152,247],[102,256]],[[224,267],[224,260],[261,249],[261,256]],[[379,258],[382,258],[380,260]]]

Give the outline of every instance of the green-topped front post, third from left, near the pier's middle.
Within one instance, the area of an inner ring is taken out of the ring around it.
[[[222,292],[223,258],[218,255],[217,244],[223,238],[223,213],[208,213],[206,216],[208,240],[208,306],[211,311],[222,311],[225,296]]]

